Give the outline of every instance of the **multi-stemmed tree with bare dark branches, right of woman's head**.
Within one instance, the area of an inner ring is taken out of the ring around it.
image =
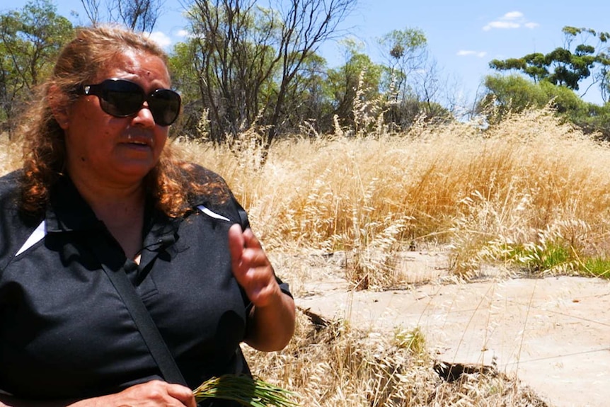
[[[221,142],[254,124],[265,146],[290,127],[294,99],[318,47],[333,38],[355,0],[192,0],[191,64]]]

